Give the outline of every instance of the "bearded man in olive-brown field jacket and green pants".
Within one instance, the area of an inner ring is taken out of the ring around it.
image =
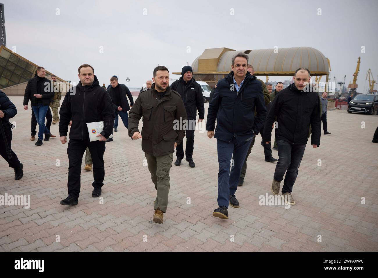
[[[142,150],[147,159],[148,170],[156,189],[153,202],[153,222],[162,224],[167,211],[169,193],[169,170],[173,153],[183,141],[185,130],[175,128],[187,120],[180,94],[169,88],[169,71],[165,66],[153,70],[153,85],[135,100],[129,113],[129,136],[142,139]],[[139,120],[143,117],[142,134]]]

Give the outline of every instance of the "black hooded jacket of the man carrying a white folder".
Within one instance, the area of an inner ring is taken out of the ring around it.
[[[70,139],[89,140],[87,123],[104,121],[101,134],[109,138],[113,131],[115,113],[112,99],[100,87],[97,77],[90,86],[83,86],[79,81],[72,91],[66,93],[60,107],[59,135],[67,136],[68,125],[72,120]]]

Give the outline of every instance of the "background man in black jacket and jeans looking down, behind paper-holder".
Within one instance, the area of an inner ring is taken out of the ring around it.
[[[127,120],[129,117],[127,115],[127,111],[129,111],[130,107],[132,107],[134,104],[133,96],[130,93],[129,88],[127,88],[127,86],[124,84],[119,84],[117,78],[113,76],[112,78],[110,78],[110,88],[108,88],[108,93],[112,98],[116,117],[113,126],[114,131],[118,131],[118,115],[121,117],[124,126],[127,128]],[[127,101],[126,95],[130,99],[130,105]],[[113,138],[109,138],[106,142],[110,141],[113,141]]]

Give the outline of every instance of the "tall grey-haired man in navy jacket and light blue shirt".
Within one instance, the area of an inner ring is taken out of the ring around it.
[[[231,62],[231,73],[217,83],[206,123],[208,137],[217,138],[219,207],[214,210],[213,216],[222,219],[228,219],[228,204],[239,207],[235,192],[240,171],[248,147],[266,117],[261,82],[247,72],[248,55],[237,53]]]

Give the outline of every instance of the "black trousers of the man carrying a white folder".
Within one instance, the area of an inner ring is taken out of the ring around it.
[[[93,162],[93,179],[94,188],[104,185],[105,168],[104,168],[104,152],[105,141],[75,140],[70,139],[68,142],[68,195],[79,198],[80,195],[80,175],[81,162],[86,148],[89,148]]]

